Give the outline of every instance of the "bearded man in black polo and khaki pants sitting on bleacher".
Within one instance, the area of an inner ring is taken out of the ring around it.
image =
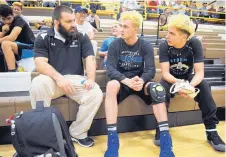
[[[32,108],[36,101],[68,96],[79,106],[76,121],[70,126],[72,140],[81,146],[90,147],[93,139],[87,136],[103,94],[95,83],[96,67],[91,42],[87,35],[76,30],[73,10],[58,6],[53,11],[54,26],[35,40],[35,64],[41,75],[35,77],[30,89]],[[82,58],[86,61],[86,74]],[[75,113],[76,114],[76,113]]]

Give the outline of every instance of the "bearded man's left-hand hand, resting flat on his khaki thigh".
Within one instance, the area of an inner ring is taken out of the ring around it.
[[[72,82],[65,77],[61,77],[56,81],[56,83],[66,94],[71,95],[75,92]]]

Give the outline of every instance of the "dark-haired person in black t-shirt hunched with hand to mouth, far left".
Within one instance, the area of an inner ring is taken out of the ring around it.
[[[0,6],[0,44],[8,71],[16,71],[15,55],[19,58],[25,50],[32,50],[35,36],[28,24],[19,16],[13,16],[10,6]],[[30,51],[28,51],[30,52]],[[31,53],[31,52],[30,52]],[[29,54],[32,56],[33,54]]]

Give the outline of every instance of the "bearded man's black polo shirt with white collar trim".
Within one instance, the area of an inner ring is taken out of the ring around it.
[[[62,75],[84,75],[82,58],[94,56],[93,47],[86,34],[78,33],[77,39],[65,39],[51,28],[35,40],[35,58],[48,58],[48,63]]]

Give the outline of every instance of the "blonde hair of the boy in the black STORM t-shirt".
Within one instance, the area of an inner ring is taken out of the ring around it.
[[[184,14],[170,16],[168,27],[176,27],[180,31],[188,32],[190,34],[188,38],[191,38],[195,33],[195,24],[189,16]]]

